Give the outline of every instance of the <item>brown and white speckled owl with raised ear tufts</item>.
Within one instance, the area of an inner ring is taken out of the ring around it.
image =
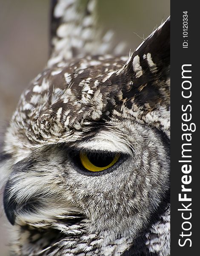
[[[79,3],[52,1],[49,61],[6,131],[11,255],[169,256],[170,19],[126,56]]]

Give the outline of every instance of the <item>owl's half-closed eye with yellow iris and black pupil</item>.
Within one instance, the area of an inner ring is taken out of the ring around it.
[[[120,154],[110,153],[80,153],[80,163],[91,172],[100,172],[113,166],[120,158]]]

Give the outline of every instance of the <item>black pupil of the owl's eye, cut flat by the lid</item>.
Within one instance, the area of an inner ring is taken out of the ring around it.
[[[94,164],[94,166],[97,167],[105,167],[108,166],[114,159],[114,155],[113,154],[99,154],[99,153],[88,153],[87,154],[90,162],[92,164]]]

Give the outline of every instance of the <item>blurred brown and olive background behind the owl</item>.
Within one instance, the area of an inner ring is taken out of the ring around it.
[[[49,3],[0,0],[0,140],[20,94],[48,59]],[[170,0],[99,0],[98,13],[99,22],[134,50],[169,16]],[[10,224],[1,197],[0,256],[8,256]]]

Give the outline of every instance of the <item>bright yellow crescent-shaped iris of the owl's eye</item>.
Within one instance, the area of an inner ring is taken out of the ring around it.
[[[93,163],[91,163],[87,153],[80,153],[79,157],[80,157],[80,162],[87,170],[89,170],[91,172],[100,172],[100,171],[106,170],[106,169],[110,168],[111,166],[113,166],[114,163],[116,163],[117,160],[119,159],[120,154],[115,154],[113,160],[111,160],[111,163],[109,163],[108,165],[103,166],[103,167],[98,167],[98,166],[95,166]],[[101,163],[101,165],[102,165],[102,163]]]

